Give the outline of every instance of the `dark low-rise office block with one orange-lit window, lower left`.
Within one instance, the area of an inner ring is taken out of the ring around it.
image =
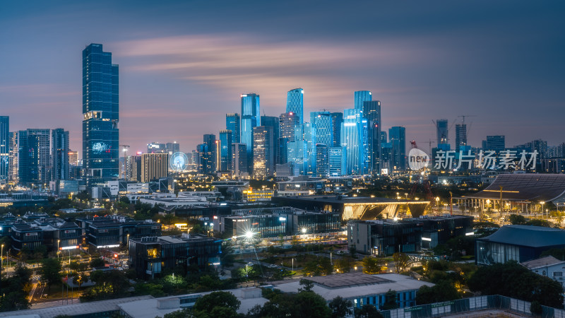
[[[129,261],[139,278],[153,278],[177,266],[218,266],[221,248],[222,240],[205,235],[141,237],[129,240]]]

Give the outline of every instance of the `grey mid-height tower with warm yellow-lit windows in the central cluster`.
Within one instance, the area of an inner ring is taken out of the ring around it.
[[[253,129],[253,176],[266,179],[275,172],[273,127],[256,126]]]

